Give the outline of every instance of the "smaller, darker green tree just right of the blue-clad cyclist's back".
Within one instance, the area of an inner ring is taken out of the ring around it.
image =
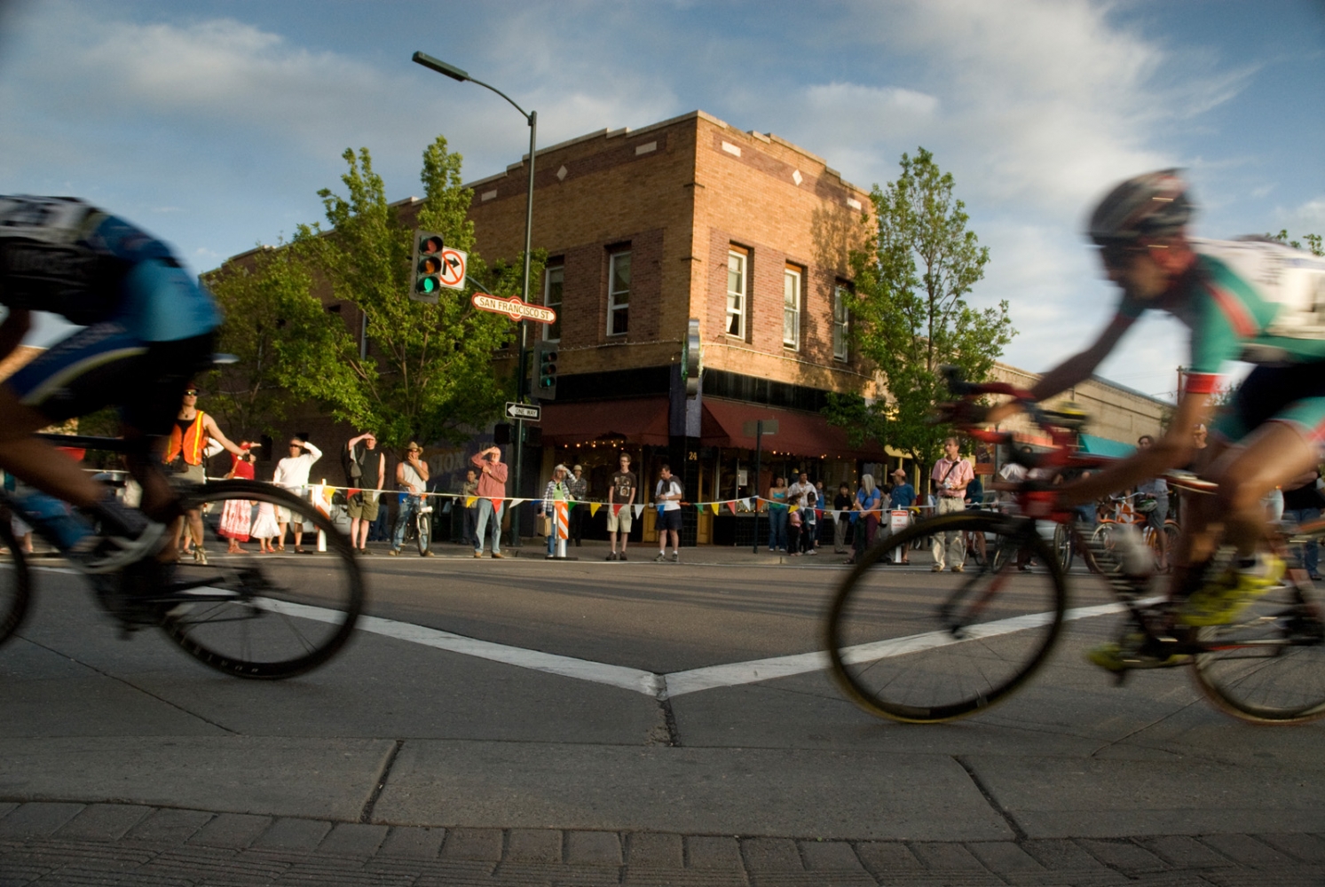
[[[225,312],[216,348],[238,357],[199,380],[207,412],[236,441],[278,434],[301,400],[288,387],[288,344],[325,346],[334,334],[334,319],[311,295],[311,271],[294,250],[268,246],[204,274],[203,283]]]

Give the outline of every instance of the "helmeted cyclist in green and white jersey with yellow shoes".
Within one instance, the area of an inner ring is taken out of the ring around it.
[[[1257,553],[1265,532],[1261,498],[1310,470],[1325,442],[1325,259],[1265,238],[1207,241],[1186,226],[1194,205],[1177,169],[1150,172],[1117,185],[1096,207],[1088,234],[1109,279],[1122,290],[1118,311],[1096,342],[1047,372],[1032,388],[1044,400],[1085,381],[1149,308],[1173,314],[1191,330],[1190,372],[1170,430],[1089,478],[1065,485],[1064,507],[1134,486],[1196,462],[1219,485],[1185,515],[1174,560],[1175,622],[1210,626],[1232,621],[1284,575],[1280,559]],[[1256,364],[1232,402],[1215,418],[1211,395],[1231,360]],[[1015,412],[994,408],[987,421]],[[1208,424],[1210,446],[1198,450],[1189,429]],[[1219,544],[1236,563],[1206,576]],[[1118,645],[1090,659],[1109,670],[1178,665],[1185,657],[1146,661]]]

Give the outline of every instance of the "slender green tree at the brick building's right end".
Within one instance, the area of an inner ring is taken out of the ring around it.
[[[831,395],[824,409],[853,442],[872,438],[924,466],[939,457],[951,433],[929,421],[934,405],[949,397],[941,368],[954,364],[969,380],[983,380],[1016,335],[1007,302],[984,310],[966,302],[984,275],[988,248],[967,229],[965,204],[953,189],[951,173],[920,148],[914,158],[902,155],[896,181],[871,192],[877,224],[871,249],[851,253],[852,338],[888,395],[873,402]]]

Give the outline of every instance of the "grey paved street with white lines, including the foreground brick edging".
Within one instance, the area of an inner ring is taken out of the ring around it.
[[[1321,727],[1117,690],[1080,658],[1116,617],[908,727],[818,669],[832,559],[572,553],[371,557],[371,630],[280,683],[44,572],[0,647],[0,884],[1325,883]]]

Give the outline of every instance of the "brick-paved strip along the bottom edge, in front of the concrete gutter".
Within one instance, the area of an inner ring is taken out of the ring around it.
[[[0,804],[0,886],[1325,883],[1325,837],[965,843],[423,829],[122,804]]]

